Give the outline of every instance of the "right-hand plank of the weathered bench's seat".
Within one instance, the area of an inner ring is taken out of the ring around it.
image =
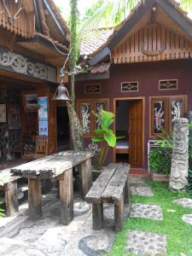
[[[107,188],[102,193],[102,201],[119,202],[121,195],[124,192],[129,168],[130,166],[127,164],[119,164],[117,171],[114,173]]]

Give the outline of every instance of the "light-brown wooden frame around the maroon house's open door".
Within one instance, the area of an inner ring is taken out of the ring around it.
[[[140,97],[115,97],[113,98],[113,113],[115,114],[116,117],[116,102],[117,101],[131,101],[131,100],[142,100],[143,102],[143,154],[142,154],[142,163],[144,166],[144,160],[145,160],[145,151],[144,151],[144,134],[145,134],[145,96],[140,96]],[[116,131],[116,120],[114,120],[113,123],[113,131],[115,133]],[[113,162],[115,161],[116,156],[115,156],[115,148],[113,148]]]

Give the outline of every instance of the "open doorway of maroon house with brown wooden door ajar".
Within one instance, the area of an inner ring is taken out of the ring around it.
[[[114,161],[143,167],[144,98],[114,99],[115,133],[121,137],[114,148]]]

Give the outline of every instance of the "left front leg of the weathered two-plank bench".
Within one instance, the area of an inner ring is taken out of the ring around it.
[[[102,230],[103,204],[92,204],[93,230]]]

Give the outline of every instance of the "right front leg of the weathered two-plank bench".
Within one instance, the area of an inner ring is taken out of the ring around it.
[[[116,231],[123,229],[124,221],[124,195],[121,195],[121,198],[118,204],[114,204],[114,228]]]

